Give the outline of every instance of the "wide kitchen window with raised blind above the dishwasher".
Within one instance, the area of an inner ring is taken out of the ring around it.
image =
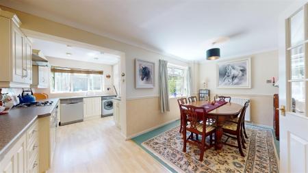
[[[51,93],[103,90],[103,71],[76,68],[51,68]]]

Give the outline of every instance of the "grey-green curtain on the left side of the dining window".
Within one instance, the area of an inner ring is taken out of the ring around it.
[[[167,61],[159,59],[159,105],[162,113],[170,111],[167,64]]]

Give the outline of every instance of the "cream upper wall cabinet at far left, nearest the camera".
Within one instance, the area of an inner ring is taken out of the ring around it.
[[[21,21],[0,9],[0,88],[29,88],[32,83],[32,46]]]

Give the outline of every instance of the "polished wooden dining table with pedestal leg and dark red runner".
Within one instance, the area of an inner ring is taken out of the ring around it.
[[[208,103],[209,105],[210,103]],[[196,101],[192,103],[187,103],[185,105],[192,105],[195,107],[206,107],[207,102],[206,101]],[[208,118],[213,118],[216,120],[216,142],[215,142],[215,148],[216,150],[222,149],[222,126],[224,125],[224,122],[230,118],[235,118],[240,114],[240,111],[242,109],[242,105],[236,104],[236,103],[225,103],[224,105],[221,105],[220,107],[217,107],[216,109],[213,109],[209,112],[207,112]]]

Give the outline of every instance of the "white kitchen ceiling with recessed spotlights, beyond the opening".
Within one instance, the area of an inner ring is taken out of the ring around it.
[[[77,46],[70,46],[58,42],[51,42],[36,38],[30,38],[30,40],[33,43],[33,49],[42,51],[46,57],[72,59],[81,62],[94,62],[98,64],[110,65],[116,64],[120,58],[118,55],[84,49]],[[68,56],[66,53],[70,53],[71,55]]]

